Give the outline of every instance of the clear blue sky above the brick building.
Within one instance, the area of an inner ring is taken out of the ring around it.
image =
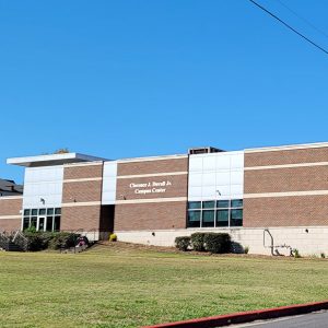
[[[278,0],[258,0],[328,48]],[[328,2],[281,0],[328,34]],[[328,56],[247,0],[0,0],[0,177],[107,159],[328,141]]]

